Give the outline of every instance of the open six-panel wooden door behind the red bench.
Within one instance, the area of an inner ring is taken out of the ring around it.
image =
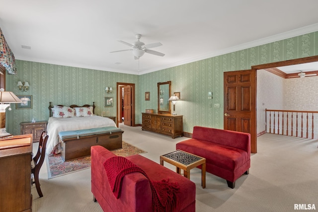
[[[256,153],[256,71],[224,72],[224,129],[250,134]]]

